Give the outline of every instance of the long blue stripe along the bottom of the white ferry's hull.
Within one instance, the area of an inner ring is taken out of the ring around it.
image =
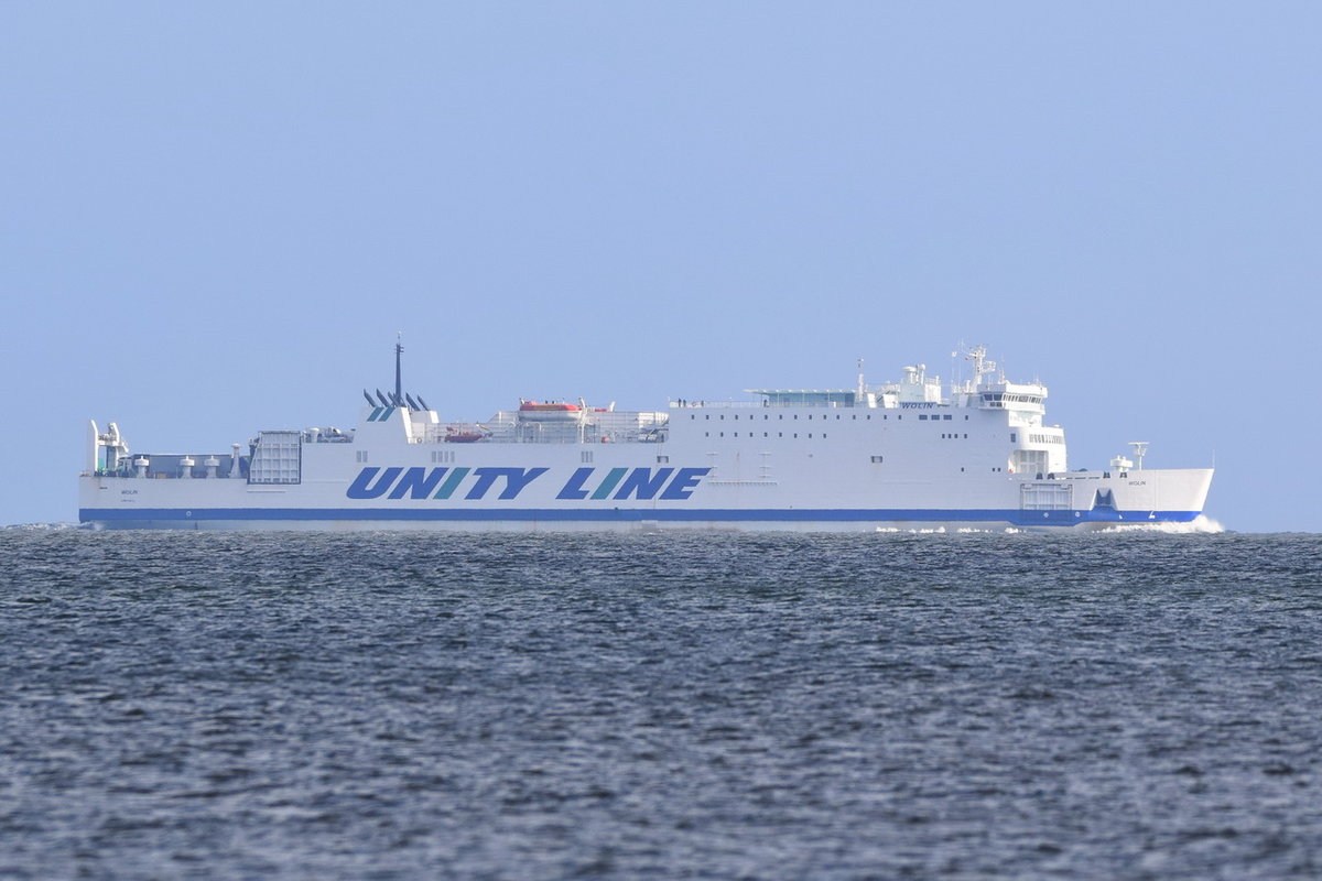
[[[1022,511],[1018,509],[382,509],[382,507],[230,507],[230,509],[81,509],[83,523],[144,520],[436,520],[436,522],[580,522],[580,523],[862,523],[964,522],[1015,526],[1077,523],[1188,523],[1200,511]]]

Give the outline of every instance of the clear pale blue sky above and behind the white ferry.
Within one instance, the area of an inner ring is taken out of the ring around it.
[[[136,450],[984,342],[1072,468],[1319,531],[1322,7],[0,7],[0,523]]]

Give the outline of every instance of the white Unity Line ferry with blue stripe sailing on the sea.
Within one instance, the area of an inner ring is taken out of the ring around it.
[[[202,453],[134,453],[89,423],[78,519],[106,530],[1085,531],[1192,523],[1211,468],[1147,469],[1146,444],[1069,470],[1047,387],[984,346],[964,379],[752,388],[661,409],[520,399],[453,421],[364,390],[352,429],[260,431]]]

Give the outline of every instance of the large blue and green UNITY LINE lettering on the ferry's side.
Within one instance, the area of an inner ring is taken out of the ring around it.
[[[345,491],[352,499],[516,499],[546,468],[365,468]],[[662,499],[693,495],[710,468],[580,468],[557,499]]]

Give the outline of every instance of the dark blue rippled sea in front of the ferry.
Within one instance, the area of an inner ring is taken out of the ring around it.
[[[1322,538],[0,531],[0,878],[1318,878]]]

